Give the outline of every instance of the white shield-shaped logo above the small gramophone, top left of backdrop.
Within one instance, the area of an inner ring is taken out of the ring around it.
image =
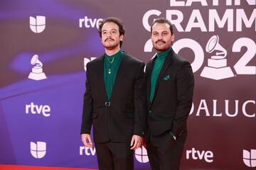
[[[46,16],[29,17],[29,27],[33,33],[42,33],[46,28]]]

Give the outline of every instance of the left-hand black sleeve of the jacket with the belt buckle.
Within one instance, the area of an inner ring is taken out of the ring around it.
[[[92,91],[90,88],[90,63],[87,63],[85,94],[83,97],[82,125],[80,134],[90,134],[92,128]]]

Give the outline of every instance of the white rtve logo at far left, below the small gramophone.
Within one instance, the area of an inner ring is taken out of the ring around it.
[[[26,114],[32,113],[33,115],[35,114],[41,114],[45,117],[50,116],[50,106],[48,105],[36,105],[33,102],[30,104],[26,104]]]

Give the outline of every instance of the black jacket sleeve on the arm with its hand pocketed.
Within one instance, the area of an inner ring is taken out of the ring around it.
[[[183,127],[186,126],[186,120],[188,119],[193,101],[193,88],[194,79],[191,64],[183,62],[176,75],[178,103],[174,123],[171,128],[171,133],[174,136],[179,135]]]

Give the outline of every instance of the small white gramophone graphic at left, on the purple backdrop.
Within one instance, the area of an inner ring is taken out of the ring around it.
[[[32,68],[32,72],[28,75],[28,79],[47,79],[46,74],[43,72],[43,63],[38,60],[38,55],[33,55],[31,64],[35,66]]]

